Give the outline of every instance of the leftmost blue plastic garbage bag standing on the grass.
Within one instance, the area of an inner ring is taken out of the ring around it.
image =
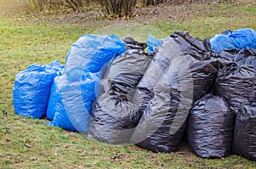
[[[14,107],[17,115],[42,118],[47,110],[52,82],[63,70],[55,60],[50,65],[32,64],[15,76],[13,89]]]

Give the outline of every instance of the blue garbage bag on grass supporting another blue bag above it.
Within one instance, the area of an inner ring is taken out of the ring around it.
[[[88,132],[90,105],[99,94],[101,73],[79,72],[55,77],[49,115],[54,115],[49,126],[62,127],[73,132]],[[80,75],[80,76],[79,76]]]

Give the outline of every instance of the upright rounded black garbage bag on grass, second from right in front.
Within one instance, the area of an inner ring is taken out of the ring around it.
[[[189,147],[201,158],[230,155],[234,122],[234,113],[224,98],[207,94],[189,112]]]

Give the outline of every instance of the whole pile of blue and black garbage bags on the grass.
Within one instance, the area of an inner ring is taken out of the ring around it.
[[[63,67],[17,74],[18,115],[87,133],[110,144],[177,151],[186,139],[202,158],[234,153],[256,161],[256,32],[225,31],[201,41],[174,32],[147,43],[84,35]]]

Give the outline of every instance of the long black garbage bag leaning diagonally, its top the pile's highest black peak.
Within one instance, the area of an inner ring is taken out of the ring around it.
[[[149,100],[154,96],[154,86],[160,81],[160,77],[165,73],[172,59],[176,59],[183,54],[189,54],[198,60],[212,59],[214,56],[210,41],[207,38],[201,41],[198,38],[190,37],[187,31],[176,31],[172,33],[171,37],[166,37],[160,48],[156,50],[154,59],[148,66],[148,70],[146,70],[134,94],[134,99],[140,104],[142,111],[146,109]],[[215,68],[216,66],[214,65],[213,67]],[[201,90],[201,87],[198,87],[198,90]],[[200,99],[201,96],[195,97],[195,100]]]

